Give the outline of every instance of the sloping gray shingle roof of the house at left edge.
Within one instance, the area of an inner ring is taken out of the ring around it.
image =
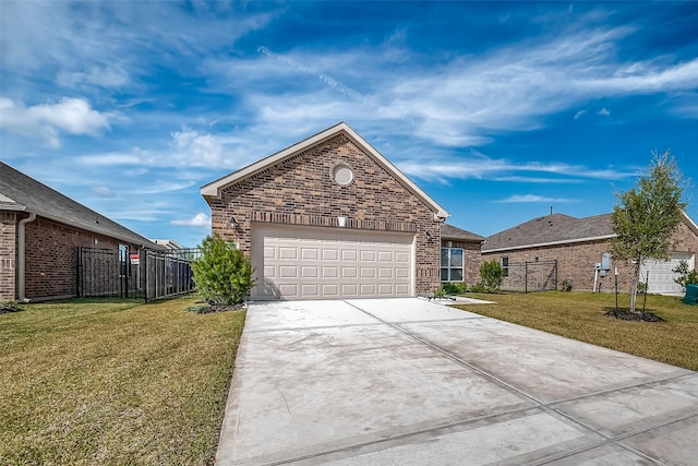
[[[71,227],[160,249],[147,238],[0,162],[0,211],[35,213]]]

